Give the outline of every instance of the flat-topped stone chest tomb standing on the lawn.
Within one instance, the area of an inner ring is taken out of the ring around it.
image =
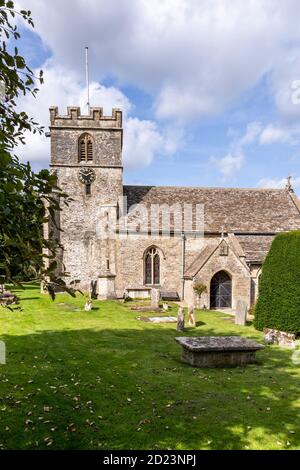
[[[241,336],[201,336],[175,338],[182,346],[183,362],[194,367],[235,367],[256,362],[262,344]]]

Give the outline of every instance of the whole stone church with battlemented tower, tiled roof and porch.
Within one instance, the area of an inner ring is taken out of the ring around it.
[[[285,189],[123,184],[122,112],[82,115],[50,108],[51,169],[71,201],[57,215],[60,274],[100,299],[166,298],[202,307],[250,306],[262,263],[280,232],[300,229],[300,204]],[[127,211],[128,209],[128,211]],[[166,221],[165,215],[169,219]],[[165,212],[164,212],[165,211]],[[288,267],[287,267],[288,269]]]

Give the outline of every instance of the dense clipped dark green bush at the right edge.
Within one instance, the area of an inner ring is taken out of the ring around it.
[[[300,231],[278,235],[263,265],[255,309],[258,330],[300,333]]]

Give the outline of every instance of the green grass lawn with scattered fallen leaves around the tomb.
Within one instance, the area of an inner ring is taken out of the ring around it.
[[[17,293],[23,312],[0,308],[0,448],[300,449],[291,351],[271,346],[257,365],[193,369],[180,362],[176,325],[137,321],[130,304],[84,312],[82,296]],[[199,311],[185,335],[262,341],[225,318]]]

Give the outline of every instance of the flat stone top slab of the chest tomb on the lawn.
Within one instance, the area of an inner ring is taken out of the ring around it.
[[[192,352],[258,351],[265,346],[241,336],[197,336],[175,338],[178,344]]]

